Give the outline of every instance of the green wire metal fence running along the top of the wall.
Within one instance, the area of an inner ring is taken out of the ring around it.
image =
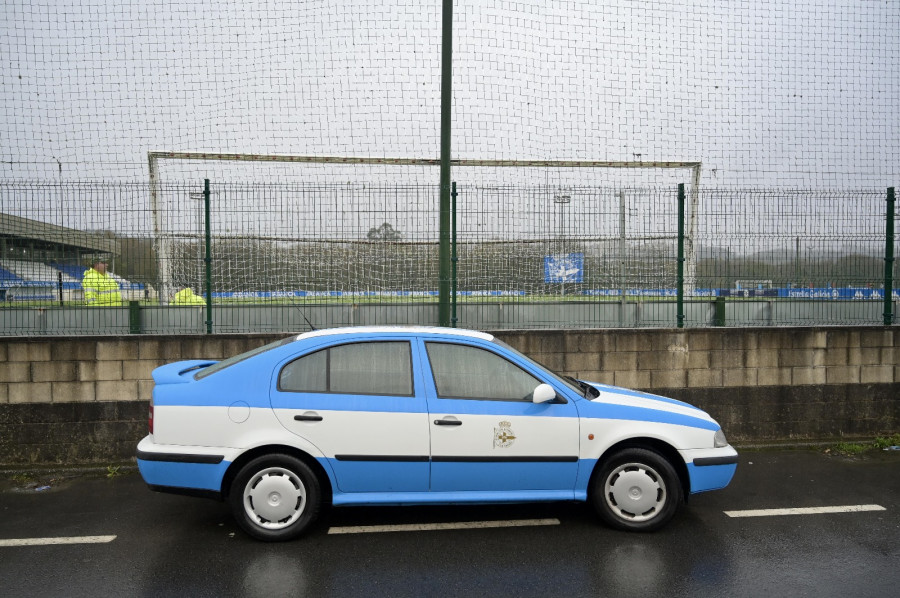
[[[892,190],[456,191],[442,297],[437,186],[3,182],[0,334],[894,321]]]

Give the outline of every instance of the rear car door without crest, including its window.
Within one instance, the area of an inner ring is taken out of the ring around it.
[[[410,341],[340,342],[286,360],[271,392],[288,430],[321,450],[342,492],[428,489],[428,414]]]

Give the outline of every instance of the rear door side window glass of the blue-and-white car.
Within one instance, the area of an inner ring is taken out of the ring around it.
[[[411,397],[409,343],[350,343],[304,355],[282,368],[278,390]]]

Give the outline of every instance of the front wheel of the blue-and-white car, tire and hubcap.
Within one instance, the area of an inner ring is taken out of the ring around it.
[[[619,451],[600,466],[591,485],[591,502],[609,526],[651,532],[666,525],[684,501],[672,464],[643,448]]]

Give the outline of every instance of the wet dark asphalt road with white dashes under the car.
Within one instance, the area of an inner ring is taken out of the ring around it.
[[[2,596],[845,597],[900,584],[896,452],[742,451],[728,489],[646,535],[582,504],[381,507],[333,509],[310,535],[264,544],[224,504],[150,492],[137,474],[42,491],[10,475]],[[879,510],[740,516],[847,506]],[[46,538],[79,543],[23,545]]]

